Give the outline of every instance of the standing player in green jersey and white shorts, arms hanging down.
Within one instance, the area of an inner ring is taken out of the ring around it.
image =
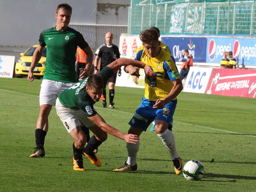
[[[33,54],[28,72],[28,80],[33,81],[33,71],[40,60],[44,47],[47,45],[44,78],[40,90],[40,113],[36,123],[36,148],[30,157],[43,157],[44,139],[48,131],[48,116],[55,105],[58,94],[77,83],[76,49],[79,46],[87,55],[86,70],[82,77],[88,76],[92,65],[93,53],[81,33],[69,28],[72,7],[59,4],[55,14],[56,26],[41,32],[39,44]]]

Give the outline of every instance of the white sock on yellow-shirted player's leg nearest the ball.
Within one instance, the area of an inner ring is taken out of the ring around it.
[[[169,129],[166,129],[163,133],[157,134],[157,136],[161,138],[164,146],[169,150],[172,159],[178,158],[179,155],[176,151],[173,133]]]

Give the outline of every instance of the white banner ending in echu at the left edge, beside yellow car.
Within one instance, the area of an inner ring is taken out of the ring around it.
[[[15,56],[0,55],[0,77],[12,78]]]

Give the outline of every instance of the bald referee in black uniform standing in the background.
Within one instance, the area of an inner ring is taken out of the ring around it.
[[[106,44],[100,45],[100,47],[95,52],[95,60],[94,60],[94,73],[97,74],[98,70],[98,63],[100,61],[100,70],[106,67],[109,63],[112,63],[114,60],[120,58],[120,52],[118,47],[112,44],[113,41],[113,34],[111,32],[107,32],[105,35]],[[118,71],[118,76],[121,76],[121,69]],[[115,84],[116,84],[116,74],[111,76],[108,79],[108,88],[109,88],[109,108],[114,107],[114,95],[115,95]],[[103,96],[105,100],[103,101],[103,108],[107,107],[107,97],[106,97],[106,88],[103,90]]]

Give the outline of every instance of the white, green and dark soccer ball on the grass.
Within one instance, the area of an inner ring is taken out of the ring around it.
[[[185,164],[182,172],[187,180],[198,181],[204,177],[204,165],[200,161],[190,160]]]

